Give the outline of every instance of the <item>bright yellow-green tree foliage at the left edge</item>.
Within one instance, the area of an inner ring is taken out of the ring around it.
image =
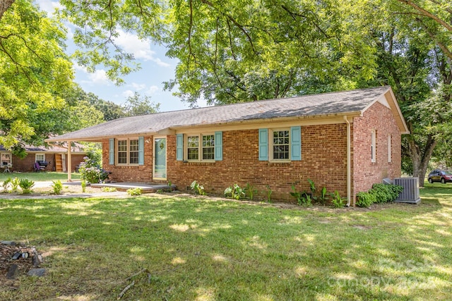
[[[10,148],[52,131],[52,110],[64,106],[61,92],[71,86],[73,70],[64,30],[32,1],[2,6],[0,17],[0,144]]]

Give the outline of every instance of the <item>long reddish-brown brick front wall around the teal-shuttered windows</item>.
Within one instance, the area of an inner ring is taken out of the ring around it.
[[[222,195],[234,183],[250,183],[265,195],[266,185],[274,199],[295,200],[291,186],[309,190],[308,178],[320,190],[347,194],[347,128],[345,124],[302,126],[302,161],[271,163],[258,161],[258,130],[223,132],[223,160],[215,163],[184,163],[176,160],[176,135],[167,136],[167,179],[185,190],[197,180],[208,192]],[[144,166],[110,166],[108,140],[102,143],[104,168],[112,171],[111,180],[152,182],[153,139],[145,137]],[[155,182],[155,181],[154,181]],[[157,181],[158,182],[158,181]]]

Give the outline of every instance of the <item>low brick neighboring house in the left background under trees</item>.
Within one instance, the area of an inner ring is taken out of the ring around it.
[[[66,144],[65,144],[66,145]],[[47,162],[45,171],[67,171],[68,164],[66,162],[68,150],[64,145],[51,145],[50,147],[34,147],[25,145],[25,152],[27,156],[20,159],[18,156],[11,154],[10,151],[0,145],[0,162],[3,165],[5,162],[11,166],[10,171],[34,171],[34,165],[37,161]],[[83,146],[76,144],[72,147],[72,162],[71,171],[76,169],[76,166],[83,161],[86,153],[83,151]],[[3,170],[0,170],[3,172]]]

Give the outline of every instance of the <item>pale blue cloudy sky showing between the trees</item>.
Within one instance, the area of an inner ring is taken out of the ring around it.
[[[35,2],[43,11],[47,11],[49,16],[59,6],[58,1],[35,0]],[[121,32],[117,43],[126,52],[133,54],[136,62],[140,63],[141,70],[124,76],[125,83],[117,86],[107,79],[102,68],[98,68],[95,73],[88,73],[85,68],[74,63],[75,81],[85,92],[93,92],[97,97],[115,104],[123,104],[127,97],[138,92],[141,96],[150,96],[151,102],[160,103],[160,111],[189,109],[188,104],[172,95],[174,91],[163,91],[162,82],[174,79],[174,70],[178,62],[177,59],[165,56],[165,47],[142,41],[136,35],[127,32]],[[71,42],[70,27],[66,44],[67,52],[71,54],[75,45]],[[198,106],[206,106],[206,103],[198,102]]]

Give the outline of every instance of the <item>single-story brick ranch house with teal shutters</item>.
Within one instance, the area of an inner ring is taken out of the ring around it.
[[[376,87],[119,118],[47,141],[102,142],[114,181],[186,190],[197,180],[217,194],[249,183],[292,199],[291,186],[309,190],[311,179],[353,204],[400,177],[405,133],[391,87]]]

